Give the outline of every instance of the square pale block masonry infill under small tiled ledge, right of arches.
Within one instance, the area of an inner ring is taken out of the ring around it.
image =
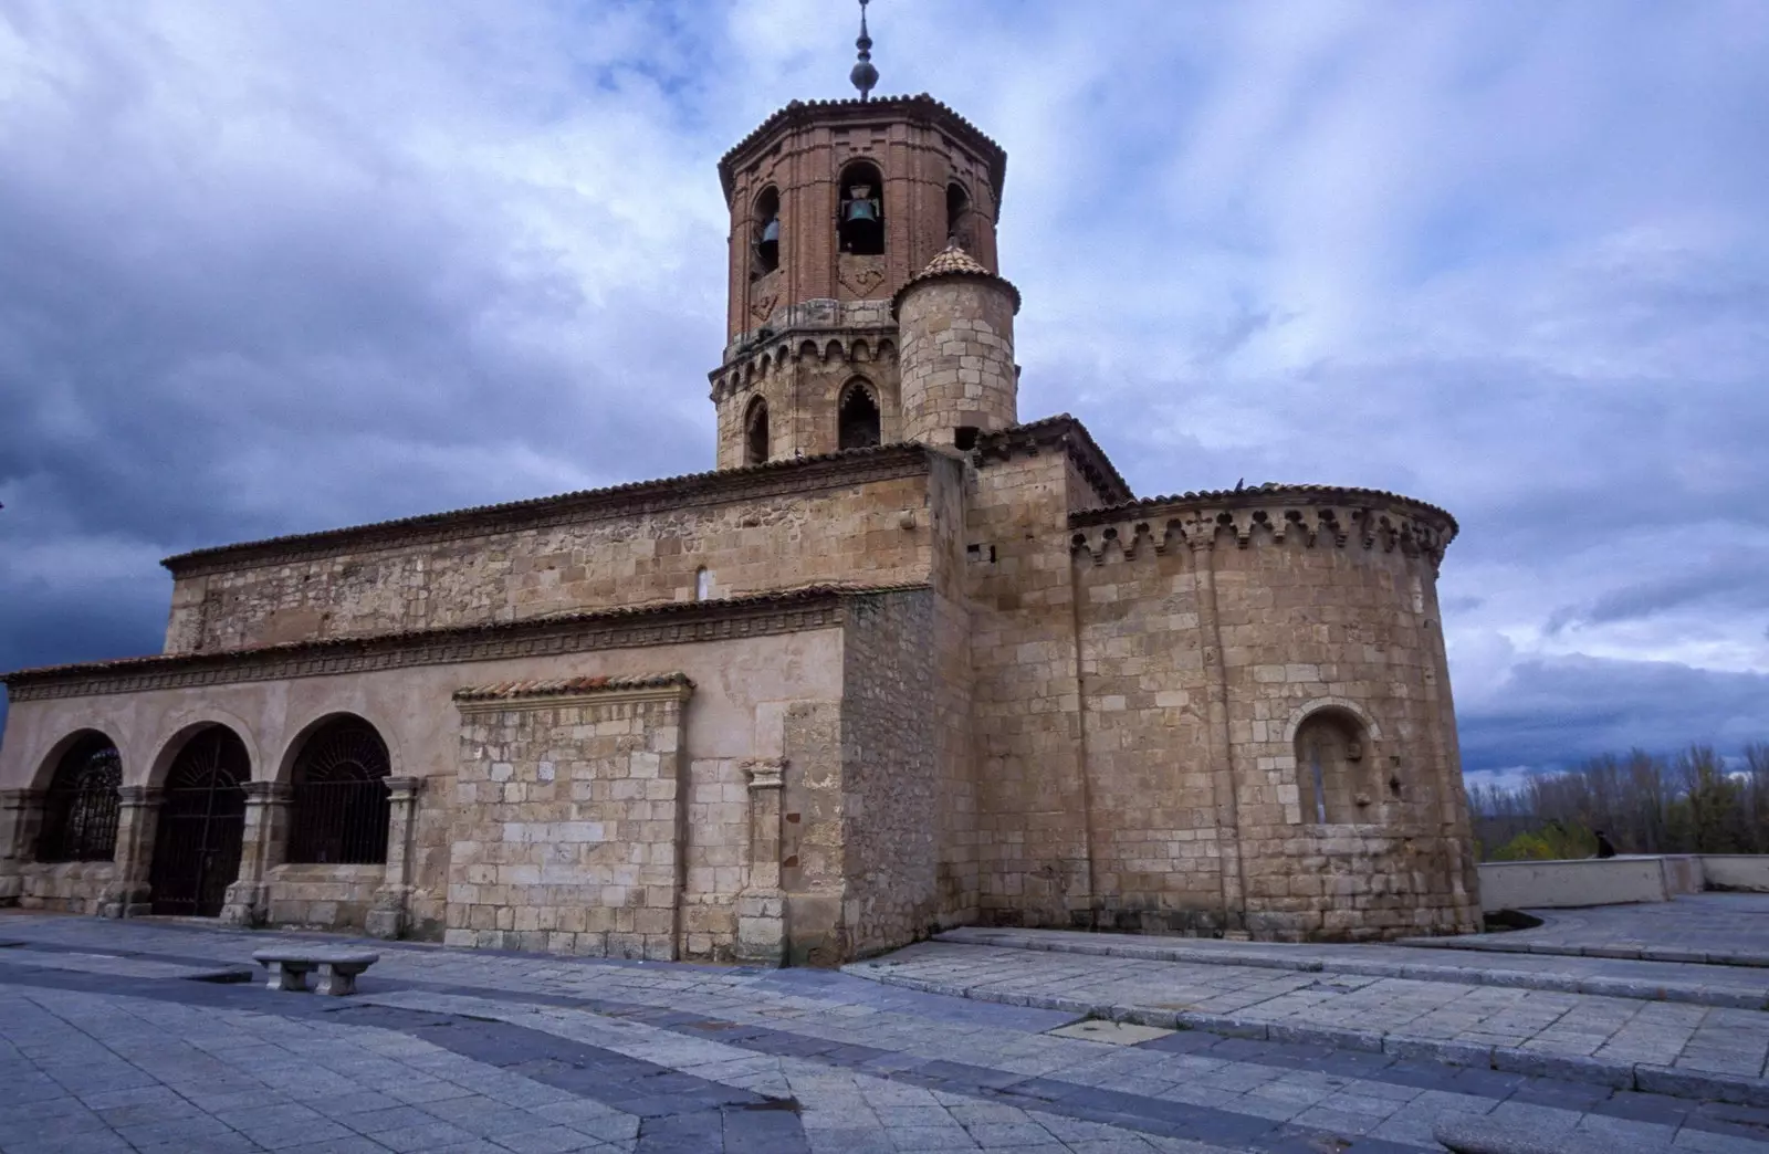
[[[686,676],[455,696],[449,945],[678,956]]]

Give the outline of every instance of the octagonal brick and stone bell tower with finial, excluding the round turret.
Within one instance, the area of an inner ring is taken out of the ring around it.
[[[793,101],[718,161],[731,211],[718,467],[911,439],[893,297],[948,248],[996,274],[1007,152],[934,97]],[[950,441],[950,437],[945,437]]]

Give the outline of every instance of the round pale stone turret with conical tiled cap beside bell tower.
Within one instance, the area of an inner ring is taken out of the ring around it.
[[[1014,313],[1019,290],[952,246],[892,297],[902,439],[971,448],[1019,423]]]

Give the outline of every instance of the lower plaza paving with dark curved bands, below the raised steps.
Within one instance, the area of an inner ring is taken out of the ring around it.
[[[30,949],[103,942],[138,959],[225,961],[292,936],[35,915],[0,927]],[[131,1136],[143,1149],[302,1154],[784,1152],[800,1133],[812,1154],[1444,1154],[1431,1129],[1449,1113],[1592,1136],[1617,1154],[1658,1138],[1693,1154],[1769,1149],[1769,1110],[1751,1106],[1321,1041],[1180,1030],[1107,1044],[1053,1034],[1076,1012],[837,972],[382,952],[350,1000],[0,968],[0,1150],[129,1149],[120,1127],[142,1126]],[[152,1117],[16,1126],[39,1110],[96,1115],[87,1094]],[[757,1099],[798,1113],[743,1108]]]

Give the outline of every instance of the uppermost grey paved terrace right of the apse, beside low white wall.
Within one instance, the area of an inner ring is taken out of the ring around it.
[[[1401,945],[1711,966],[1769,966],[1769,894],[1688,894],[1663,903],[1528,910],[1535,929],[1408,938]]]

